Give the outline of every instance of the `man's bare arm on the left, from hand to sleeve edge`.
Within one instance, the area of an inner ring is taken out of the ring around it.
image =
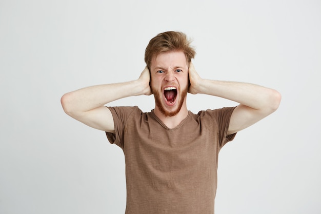
[[[114,120],[104,105],[134,95],[150,95],[147,67],[138,80],[91,86],[66,93],[61,98],[64,111],[72,118],[99,130],[114,132]]]

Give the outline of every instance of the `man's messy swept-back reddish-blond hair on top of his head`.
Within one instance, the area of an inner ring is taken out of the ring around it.
[[[183,51],[188,63],[194,58],[196,52],[190,46],[191,40],[188,40],[185,33],[176,31],[167,31],[157,34],[149,41],[145,50],[145,63],[150,68],[152,58],[159,53],[169,51]]]

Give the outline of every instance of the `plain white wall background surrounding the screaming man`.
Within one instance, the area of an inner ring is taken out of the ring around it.
[[[124,213],[124,155],[63,112],[78,88],[137,79],[159,32],[193,39],[206,79],[282,93],[219,155],[215,212],[321,213],[321,3],[0,1],[0,213]],[[111,105],[154,107],[152,96]],[[188,108],[234,106],[188,95]]]

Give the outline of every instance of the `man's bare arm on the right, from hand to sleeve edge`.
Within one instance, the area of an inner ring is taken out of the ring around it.
[[[280,93],[274,89],[250,83],[202,79],[192,63],[189,67],[189,79],[189,92],[192,94],[209,94],[239,103],[231,115],[228,134],[245,129],[265,118],[278,108],[281,101]]]

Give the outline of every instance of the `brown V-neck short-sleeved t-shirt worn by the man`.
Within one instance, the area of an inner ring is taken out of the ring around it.
[[[126,214],[213,214],[220,148],[235,107],[189,112],[170,129],[153,111],[109,107],[115,134],[110,143],[125,154]]]

